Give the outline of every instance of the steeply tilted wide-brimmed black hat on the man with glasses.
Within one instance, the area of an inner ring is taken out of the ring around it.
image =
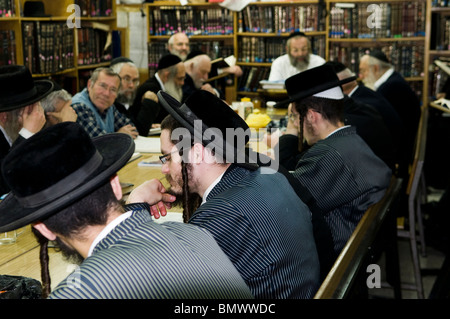
[[[250,129],[220,98],[208,91],[197,90],[181,105],[163,91],[157,95],[161,105],[189,130],[191,137],[213,148],[216,156],[229,163],[253,164],[245,154]]]

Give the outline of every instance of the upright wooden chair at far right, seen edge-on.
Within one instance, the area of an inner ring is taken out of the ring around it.
[[[417,130],[414,159],[406,190],[408,199],[407,225],[405,225],[405,229],[399,229],[397,231],[397,235],[399,238],[409,239],[415,276],[415,284],[402,284],[402,288],[407,290],[416,290],[417,296],[420,299],[424,298],[424,292],[420,270],[419,248],[417,242],[420,242],[422,255],[425,256],[426,245],[421,205],[426,201],[426,183],[423,172],[423,165],[427,144],[427,128],[428,108],[423,107]]]

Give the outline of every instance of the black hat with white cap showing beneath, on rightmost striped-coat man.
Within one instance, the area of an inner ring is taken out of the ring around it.
[[[356,80],[356,76],[339,80],[333,67],[327,64],[305,70],[291,76],[286,80],[285,86],[289,98],[287,100],[278,102],[275,107],[285,106],[286,104],[304,99],[312,95],[327,97],[326,92],[328,92],[329,90],[335,88],[337,88],[337,90],[341,90],[341,85],[354,80]]]

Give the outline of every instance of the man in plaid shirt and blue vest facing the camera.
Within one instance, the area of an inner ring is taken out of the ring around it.
[[[79,123],[91,137],[120,132],[138,136],[131,120],[120,113],[114,101],[120,89],[120,76],[110,68],[97,68],[87,87],[72,98],[72,107]]]

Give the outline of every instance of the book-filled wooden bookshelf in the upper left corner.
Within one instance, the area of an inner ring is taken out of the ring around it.
[[[0,2],[11,7],[0,15],[0,37],[14,37],[4,63],[26,65],[33,77],[52,78],[72,94],[83,88],[90,71],[109,64],[112,56],[103,47],[116,23],[115,0],[44,0],[44,17],[25,17],[26,0]]]

